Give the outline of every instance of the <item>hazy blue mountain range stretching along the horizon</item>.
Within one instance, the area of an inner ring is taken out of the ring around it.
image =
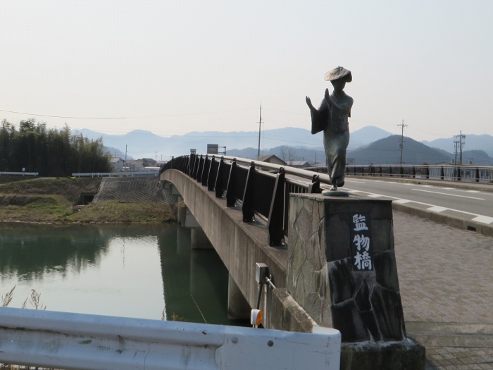
[[[146,130],[132,130],[125,135],[109,135],[92,130],[77,130],[77,133],[97,139],[102,137],[107,152],[121,158],[152,158],[168,160],[171,156],[189,154],[190,149],[205,153],[207,144],[218,144],[219,152],[227,155],[255,159],[258,154],[258,132],[189,132],[185,135],[163,137]],[[325,162],[321,133],[311,135],[302,128],[280,128],[261,132],[261,155],[289,154],[290,160]],[[435,164],[455,159],[454,137],[418,142],[404,137],[402,161],[407,164]],[[392,135],[375,126],[366,126],[351,132],[347,149],[348,159],[356,164],[398,164],[400,161],[401,136]],[[478,165],[493,165],[493,136],[466,135],[463,145],[463,163],[471,161]],[[458,161],[458,158],[457,158]]]

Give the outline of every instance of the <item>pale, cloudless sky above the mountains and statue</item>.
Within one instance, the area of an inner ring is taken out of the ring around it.
[[[264,129],[309,129],[305,96],[318,104],[325,72],[344,66],[351,130],[400,134],[404,119],[415,140],[493,135],[492,0],[0,5],[0,120],[11,123],[251,131],[262,104]]]

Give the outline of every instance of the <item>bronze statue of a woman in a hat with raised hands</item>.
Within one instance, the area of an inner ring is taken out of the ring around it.
[[[343,89],[346,82],[351,82],[351,71],[337,67],[325,73],[325,81],[330,81],[334,87],[332,94],[325,89],[325,97],[316,109],[309,97],[306,104],[311,113],[311,133],[323,131],[323,146],[327,157],[327,171],[332,183],[331,192],[337,187],[344,186],[344,171],[346,169],[346,149],[349,144],[349,122],[353,98]]]

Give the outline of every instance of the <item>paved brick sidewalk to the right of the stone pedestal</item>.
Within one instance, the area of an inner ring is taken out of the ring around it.
[[[408,336],[426,369],[493,369],[493,238],[394,211]]]

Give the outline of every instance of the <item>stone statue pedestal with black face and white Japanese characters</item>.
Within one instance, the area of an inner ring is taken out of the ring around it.
[[[424,347],[406,337],[391,201],[291,195],[288,253],[287,290],[341,332],[341,369],[425,368]]]

